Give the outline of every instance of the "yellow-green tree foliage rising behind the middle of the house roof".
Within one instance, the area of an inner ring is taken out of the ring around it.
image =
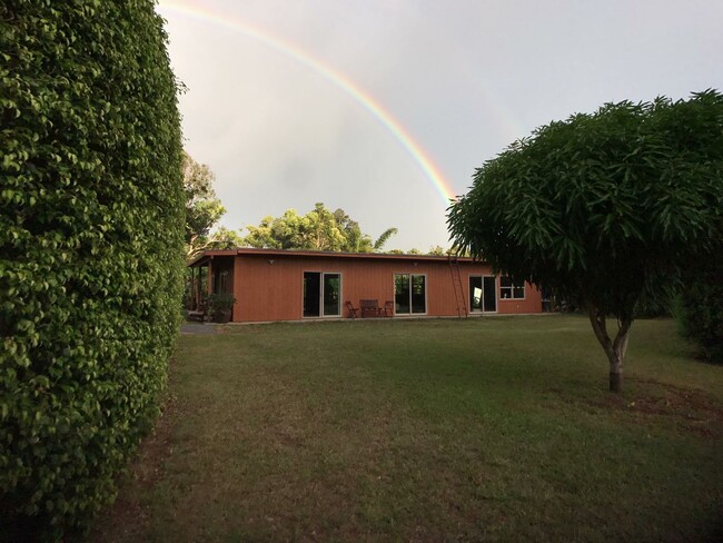
[[[333,213],[321,203],[304,216],[288,209],[280,217],[268,216],[258,226],[247,228],[249,234],[244,244],[251,247],[345,253],[382,250],[389,237],[397,233],[396,228],[387,228],[373,240],[343,209]]]

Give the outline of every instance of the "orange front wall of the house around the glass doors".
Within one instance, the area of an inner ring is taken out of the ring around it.
[[[390,260],[339,258],[334,256],[238,255],[234,266],[234,322],[300,320],[304,318],[304,273],[341,275],[341,316],[344,302],[359,307],[359,299],[377,299],[384,307],[394,300],[395,274],[426,276],[427,316],[457,316],[457,303],[449,265],[439,260]],[[469,304],[469,276],[492,275],[489,266],[459,263],[465,305]],[[499,298],[499,288],[496,288]],[[538,313],[541,293],[526,285],[525,299],[497,299],[497,313]],[[415,315],[416,316],[416,315]]]

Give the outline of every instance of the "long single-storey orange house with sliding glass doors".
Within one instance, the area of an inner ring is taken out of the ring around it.
[[[542,312],[537,287],[472,258],[239,248],[206,251],[189,267],[195,299],[234,295],[234,323],[344,318],[351,308],[394,318]]]

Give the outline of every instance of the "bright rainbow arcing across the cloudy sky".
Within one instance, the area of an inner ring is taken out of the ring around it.
[[[205,2],[194,0],[160,0],[158,11],[162,16],[165,11],[181,13],[194,19],[198,19],[211,24],[216,24],[234,32],[251,38],[270,49],[293,59],[300,65],[309,68],[341,89],[354,100],[369,111],[386,129],[388,129],[397,141],[419,165],[426,177],[432,181],[436,190],[444,198],[445,205],[456,200],[457,197],[450,188],[449,182],[444,178],[439,168],[435,166],[432,158],[422,149],[412,135],[382,106],[372,95],[361,89],[351,79],[344,73],[323,63],[317,58],[300,49],[298,46],[290,43],[266,30],[251,27],[238,17],[221,13],[211,10]]]

